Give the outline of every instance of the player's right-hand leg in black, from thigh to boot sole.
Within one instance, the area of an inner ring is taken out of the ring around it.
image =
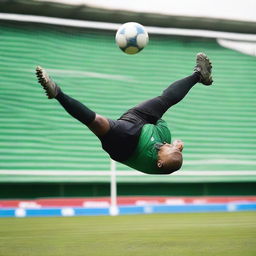
[[[211,85],[211,69],[208,57],[203,53],[197,54],[195,72],[192,75],[172,83],[162,95],[142,102],[134,111],[148,122],[155,123],[171,106],[180,102],[196,83]]]

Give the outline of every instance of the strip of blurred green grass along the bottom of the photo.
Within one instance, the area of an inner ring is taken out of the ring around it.
[[[0,255],[256,255],[256,212],[2,218]]]

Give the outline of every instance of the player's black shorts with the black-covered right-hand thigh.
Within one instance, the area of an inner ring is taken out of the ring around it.
[[[116,161],[127,160],[135,151],[142,127],[155,124],[164,113],[160,97],[131,108],[118,120],[110,120],[110,130],[100,137],[102,148]]]

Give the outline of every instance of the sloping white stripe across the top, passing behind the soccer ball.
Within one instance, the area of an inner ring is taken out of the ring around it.
[[[44,23],[44,24],[59,25],[59,26],[93,28],[93,29],[114,30],[114,31],[116,31],[121,25],[118,23],[82,21],[82,20],[51,18],[51,17],[45,17],[45,16],[12,14],[12,13],[0,13],[0,20]],[[152,26],[145,26],[145,27],[149,34],[222,38],[222,39],[230,39],[230,40],[256,42],[256,35],[254,34],[231,33],[231,32],[199,30],[199,29],[161,28],[161,27],[152,27]]]

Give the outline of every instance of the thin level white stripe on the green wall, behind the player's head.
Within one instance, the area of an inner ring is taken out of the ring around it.
[[[32,175],[32,176],[110,176],[110,171],[41,171],[41,170],[0,170],[0,175]],[[117,171],[117,176],[145,176],[138,171]],[[175,172],[175,176],[245,176],[256,175],[256,171],[186,171]],[[152,175],[149,175],[152,176]]]

